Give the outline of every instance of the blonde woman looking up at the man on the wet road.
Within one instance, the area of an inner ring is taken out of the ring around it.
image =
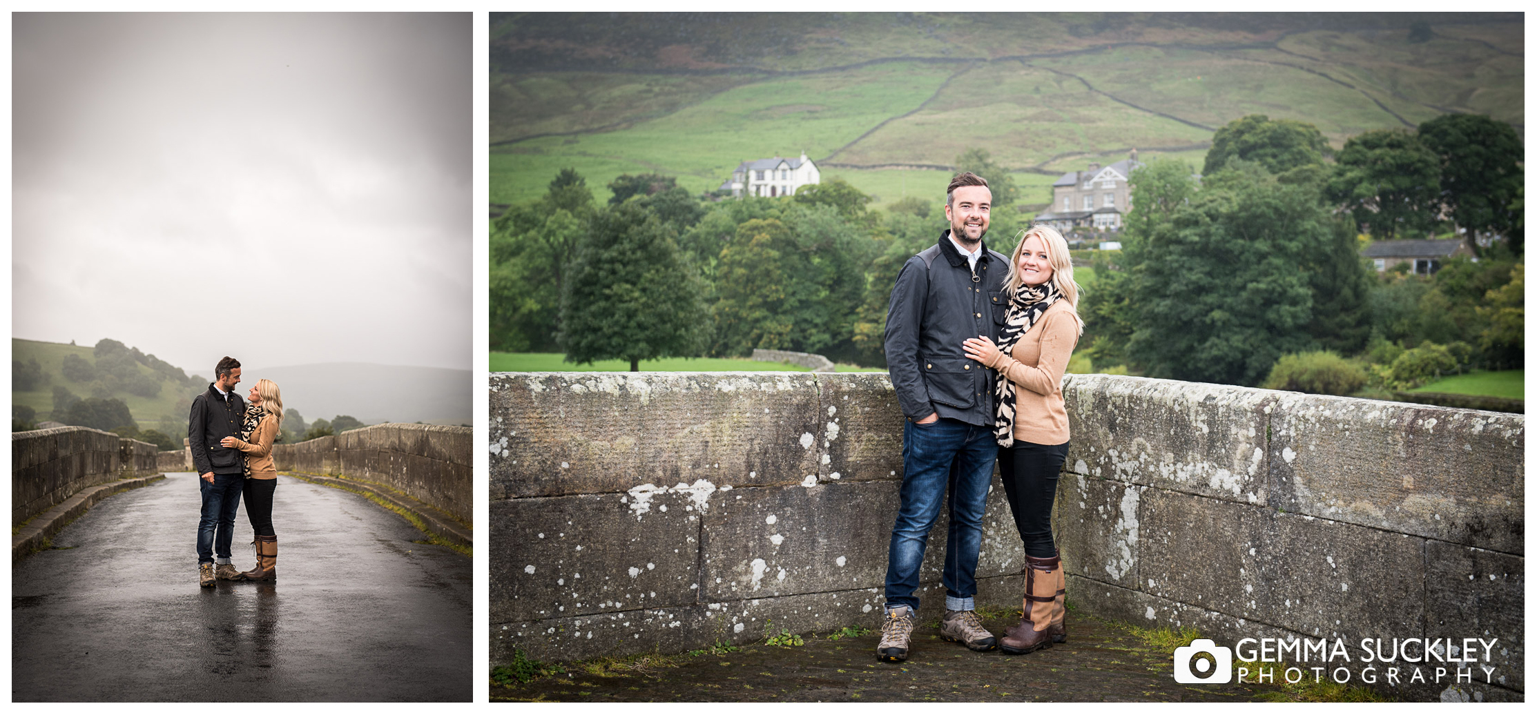
[[[240,437],[226,437],[220,444],[235,447],[246,454],[246,517],[251,517],[251,529],[257,549],[257,567],[240,574],[246,581],[277,581],[278,580],[278,537],[272,530],[272,495],[278,487],[278,471],[272,464],[272,441],[283,424],[283,395],[272,380],[257,380],[246,395],[251,403],[246,407],[246,421],[240,429]]]

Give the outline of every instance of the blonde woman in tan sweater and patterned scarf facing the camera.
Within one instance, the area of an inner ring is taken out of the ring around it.
[[[1004,632],[1005,653],[1028,653],[1067,641],[1062,560],[1051,540],[1051,501],[1067,461],[1068,421],[1062,374],[1084,334],[1079,286],[1067,241],[1048,226],[1021,232],[1008,268],[1010,303],[1001,344],[970,338],[964,349],[998,371],[998,471],[1014,526],[1025,543],[1021,620]]]

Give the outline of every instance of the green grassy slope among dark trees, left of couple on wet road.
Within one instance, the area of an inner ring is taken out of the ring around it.
[[[95,363],[91,346],[11,338],[11,360],[20,363],[37,360],[37,363],[43,367],[45,375],[38,389],[28,392],[12,391],[11,403],[26,404],[35,409],[38,421],[48,420],[54,412],[54,387],[63,386],[78,397],[109,397],[123,400],[123,403],[128,404],[129,412],[134,414],[134,421],[138,423],[140,429],[158,429],[174,438],[180,438],[186,432],[186,420],[188,412],[192,409],[192,398],[197,397],[198,392],[207,389],[207,381],[212,380],[201,380],[201,386],[192,386],[191,383],[177,384],[171,380],[160,380],[160,394],[155,397],[140,397],[123,389],[106,391],[97,395],[92,392],[91,383],[80,383],[65,377],[61,369],[65,355],[78,355],[92,364]],[[137,364],[135,367],[141,375],[158,378],[154,371],[143,364]],[[189,380],[191,377],[192,375],[188,375]]]

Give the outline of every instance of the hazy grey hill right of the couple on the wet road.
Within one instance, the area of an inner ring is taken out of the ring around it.
[[[372,363],[320,363],[252,367],[249,380],[267,378],[283,389],[283,404],[304,421],[352,415],[369,424],[424,421],[470,424],[470,371]]]

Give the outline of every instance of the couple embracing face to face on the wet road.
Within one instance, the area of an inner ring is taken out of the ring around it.
[[[275,583],[278,537],[272,530],[272,497],[277,494],[278,471],[272,463],[272,443],[283,424],[283,395],[272,380],[257,380],[241,400],[235,392],[240,360],[227,355],[214,367],[214,375],[207,391],[192,400],[188,418],[188,441],[203,497],[203,515],[197,526],[198,584]],[[257,567],[247,572],[235,569],[229,560],[241,497],[255,532],[251,543]]]

